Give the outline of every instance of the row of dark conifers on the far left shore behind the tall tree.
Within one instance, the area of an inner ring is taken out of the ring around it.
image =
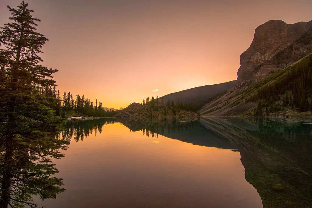
[[[94,117],[107,117],[113,116],[117,111],[106,110],[103,107],[102,102],[91,101],[89,98],[85,98],[84,95],[80,97],[79,94],[76,95],[75,99],[73,98],[71,92],[64,92],[61,97],[60,91],[56,91],[56,87],[46,86],[45,88],[40,89],[41,94],[44,94],[48,99],[53,100],[50,102],[51,108],[56,111],[57,116],[65,118],[73,114],[80,114],[86,116]]]

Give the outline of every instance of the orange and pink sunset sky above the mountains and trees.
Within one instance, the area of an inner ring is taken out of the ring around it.
[[[20,2],[0,0],[1,27],[10,17],[6,5]],[[49,39],[43,65],[59,70],[61,94],[109,108],[236,80],[256,27],[312,20],[311,0],[25,2],[42,21],[38,31]]]

